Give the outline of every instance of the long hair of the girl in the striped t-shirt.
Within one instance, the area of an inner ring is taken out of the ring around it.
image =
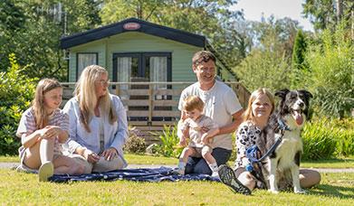
[[[62,88],[62,85],[59,83],[58,80],[43,79],[38,82],[32,101],[36,129],[41,129],[45,126],[48,126],[49,114],[47,114],[44,108],[44,94],[50,90],[57,88]]]

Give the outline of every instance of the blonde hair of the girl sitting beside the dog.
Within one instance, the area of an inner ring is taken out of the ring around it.
[[[252,92],[250,98],[248,99],[247,109],[244,111],[244,114],[243,114],[244,121],[248,121],[248,120],[253,121],[254,120],[254,114],[252,113],[252,104],[254,103],[254,100],[256,98],[258,98],[260,95],[266,95],[269,98],[269,100],[271,101],[271,104],[272,104],[271,114],[273,113],[273,111],[274,111],[274,98],[273,98],[272,93],[268,89],[260,88],[260,89],[254,90],[254,92]]]

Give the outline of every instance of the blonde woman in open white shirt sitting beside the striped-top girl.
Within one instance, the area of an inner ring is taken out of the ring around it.
[[[122,151],[128,137],[127,114],[120,98],[110,94],[108,78],[104,68],[86,67],[74,97],[63,108],[70,117],[69,149],[85,159],[86,172],[127,166]]]

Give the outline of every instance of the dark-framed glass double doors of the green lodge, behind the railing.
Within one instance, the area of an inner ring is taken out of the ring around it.
[[[117,82],[167,82],[171,81],[170,52],[129,52],[113,54],[113,81]],[[167,89],[167,85],[152,85],[153,89]],[[149,85],[120,85],[120,89],[149,89]],[[167,99],[167,96],[124,96],[122,99]],[[129,106],[129,110],[148,110],[147,106]],[[157,107],[150,109],[160,109]],[[168,108],[169,109],[169,108]],[[131,119],[131,117],[129,117]],[[134,118],[135,119],[135,118]],[[139,120],[144,120],[142,117]]]

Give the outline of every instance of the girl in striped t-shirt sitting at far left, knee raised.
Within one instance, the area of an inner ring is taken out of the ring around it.
[[[43,79],[35,89],[31,108],[24,111],[16,136],[21,137],[21,164],[17,170],[38,170],[40,182],[53,173],[83,173],[83,166],[62,155],[62,143],[69,134],[69,117],[62,113],[62,86],[57,80]]]

